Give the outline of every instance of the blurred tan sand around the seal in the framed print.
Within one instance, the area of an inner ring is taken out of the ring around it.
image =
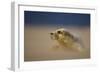
[[[25,27],[24,28],[24,60],[67,60],[67,59],[86,59],[90,58],[90,29],[87,28],[69,28],[69,31],[77,33],[84,44],[83,51],[71,49],[55,49],[58,44],[51,40],[50,32],[56,30],[56,27]]]

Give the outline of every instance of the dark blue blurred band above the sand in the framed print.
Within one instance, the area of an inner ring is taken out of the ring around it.
[[[89,26],[90,14],[25,11],[24,23],[33,26]]]

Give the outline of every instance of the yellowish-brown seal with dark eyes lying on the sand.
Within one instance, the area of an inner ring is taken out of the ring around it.
[[[59,45],[64,48],[78,49],[82,50],[82,45],[80,43],[79,38],[74,36],[72,33],[67,31],[64,28],[57,29],[54,32],[51,32],[51,39],[56,40]]]

